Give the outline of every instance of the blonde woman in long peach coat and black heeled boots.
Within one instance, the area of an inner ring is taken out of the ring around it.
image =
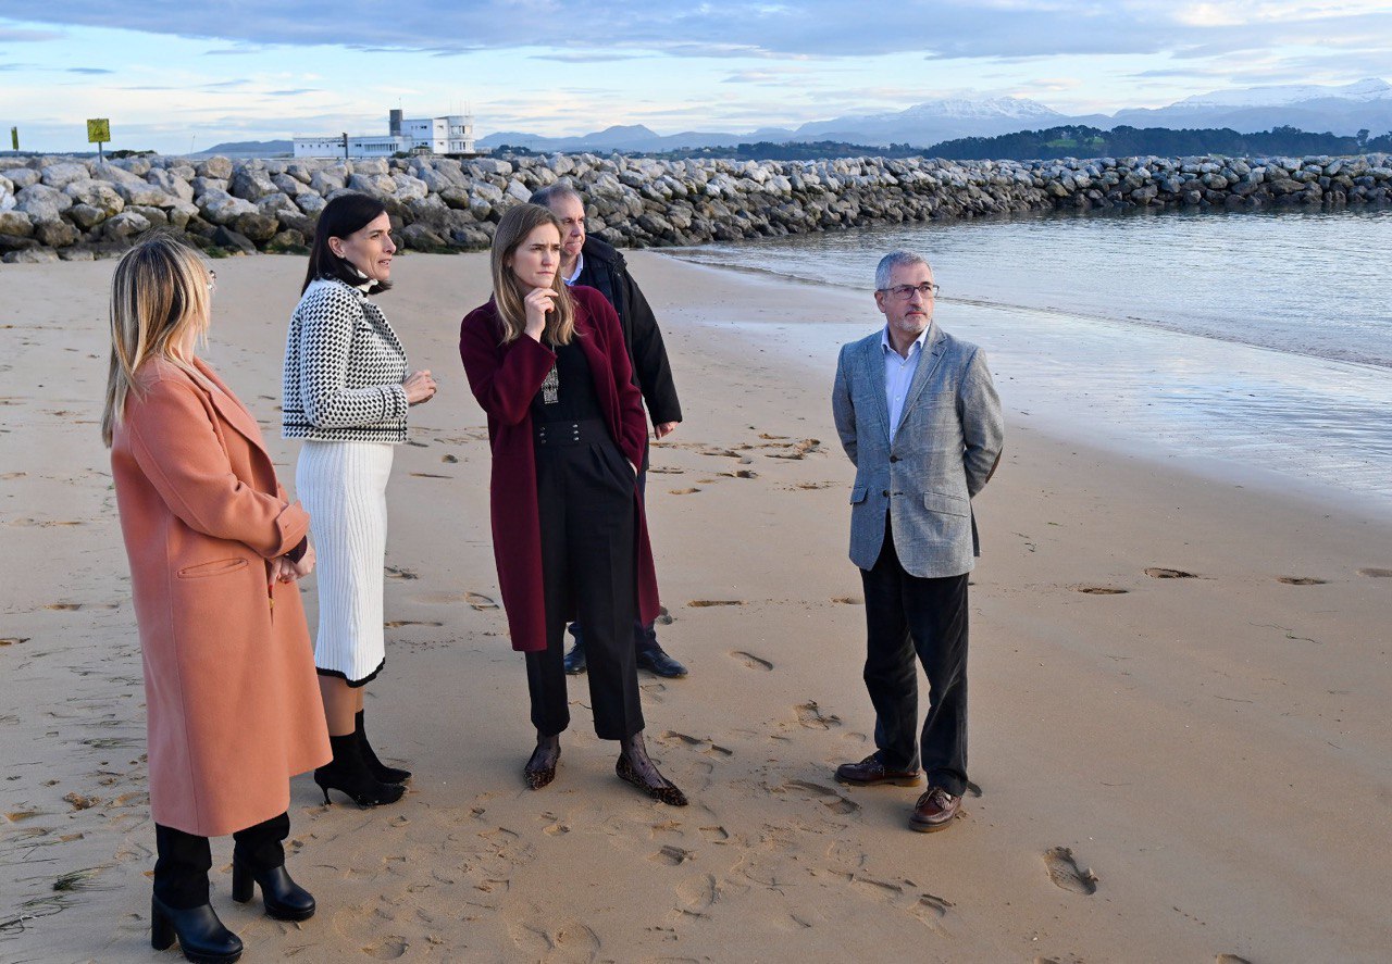
[[[276,480],[252,415],[195,353],[213,275],[167,236],[132,248],[111,285],[111,447],[145,665],[157,861],[152,943],[235,961],[209,903],[207,837],[234,835],[232,897],[306,919],[285,872],[290,776],[329,761],[295,580],[309,516]]]

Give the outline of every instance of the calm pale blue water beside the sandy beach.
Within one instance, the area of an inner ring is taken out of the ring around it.
[[[1045,217],[674,253],[863,289],[871,326],[894,248],[933,262],[940,324],[986,348],[1016,420],[1392,512],[1392,211]],[[798,328],[830,352],[867,330]]]

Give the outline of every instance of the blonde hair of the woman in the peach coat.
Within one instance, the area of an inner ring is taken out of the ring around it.
[[[146,234],[116,266],[111,278],[111,363],[106,377],[102,441],[125,412],[135,373],[163,358],[193,373],[184,351],[188,334],[203,338],[210,320],[213,275],[192,248],[166,234]]]

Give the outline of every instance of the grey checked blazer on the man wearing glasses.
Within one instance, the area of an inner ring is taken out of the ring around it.
[[[891,447],[881,334],[842,346],[831,392],[841,445],[856,466],[851,561],[874,568],[894,506],[894,548],[905,572],[960,576],[979,555],[972,497],[1001,455],[1001,399],[983,352],[933,321]]]

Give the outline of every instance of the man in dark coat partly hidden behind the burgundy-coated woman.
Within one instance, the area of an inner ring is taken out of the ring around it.
[[[612,245],[590,238],[585,232],[585,199],[567,184],[555,184],[532,195],[533,204],[544,204],[561,218],[561,278],[568,285],[587,285],[599,289],[618,313],[624,344],[633,366],[633,384],[643,392],[647,415],[653,420],[653,437],[671,434],[682,420],[682,406],[677,401],[672,367],[667,362],[663,332],[653,317],[653,309],[642,289],[628,273],[624,256]],[[647,487],[647,452],[638,476],[639,491]],[[585,672],[585,633],[579,623],[571,626],[575,647],[565,654],[565,672]],[[653,623],[633,625],[633,648],[638,665],[658,676],[675,679],[686,675],[686,666],[663,651],[657,644]]]

